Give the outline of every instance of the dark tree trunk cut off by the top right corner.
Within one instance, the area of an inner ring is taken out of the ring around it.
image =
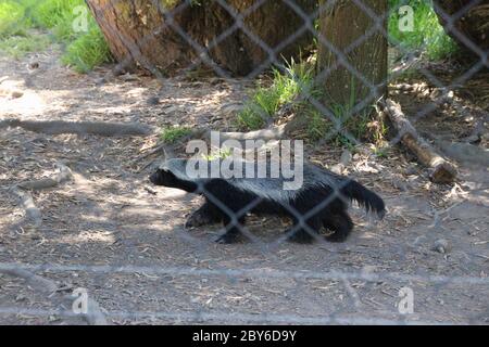
[[[489,0],[435,0],[438,14],[446,31],[467,52],[480,55],[489,51]],[[453,27],[447,16],[453,16]]]

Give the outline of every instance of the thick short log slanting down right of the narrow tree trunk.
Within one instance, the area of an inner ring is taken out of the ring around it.
[[[417,134],[416,129],[402,112],[401,105],[387,99],[385,110],[400,134],[402,144],[410,149],[423,165],[431,168],[431,181],[435,183],[453,182],[456,178],[455,166],[442,158],[426,140]]]

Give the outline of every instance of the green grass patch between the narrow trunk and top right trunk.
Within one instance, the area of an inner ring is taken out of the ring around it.
[[[414,10],[413,31],[399,28],[399,7],[408,4]],[[423,50],[429,60],[450,57],[459,51],[456,43],[443,30],[429,0],[390,0],[391,14],[388,21],[391,43],[402,50]]]

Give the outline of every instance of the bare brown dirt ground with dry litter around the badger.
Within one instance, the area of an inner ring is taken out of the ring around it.
[[[33,62],[39,67],[30,68]],[[59,64],[55,49],[22,61],[1,57],[0,120],[227,129],[252,85],[140,75],[101,83],[109,68],[77,75]],[[159,102],[150,102],[156,95]],[[403,98],[413,114],[429,102]],[[456,137],[467,136],[484,114],[472,120],[452,115],[452,129],[462,125],[467,130]],[[429,119],[441,116],[428,114],[419,130],[432,133]],[[86,324],[66,314],[71,301],[61,299],[75,288],[86,288],[113,324],[489,323],[489,175],[484,165],[462,164],[455,184],[436,185],[401,147],[377,156],[365,144],[344,174],[385,198],[383,221],[353,207],[356,228],[346,243],[299,245],[277,241],[284,221],[252,218],[255,241],[221,245],[213,242],[218,227],[183,227],[198,197],[150,187],[145,153],[158,134],[46,136],[21,128],[3,128],[0,134],[0,265],[57,284],[47,295],[0,271],[0,323]],[[341,153],[310,149],[311,157],[328,167]],[[73,179],[32,192],[42,220],[35,227],[25,220],[12,187],[49,177],[60,162]],[[43,268],[29,268],[35,265]],[[412,313],[397,307],[402,287],[413,291]]]

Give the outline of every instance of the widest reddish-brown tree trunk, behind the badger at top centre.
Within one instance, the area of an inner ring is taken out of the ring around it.
[[[304,21],[286,2],[266,1],[248,10],[255,1],[189,3],[183,0],[86,0],[110,49],[121,63],[172,75],[196,66],[203,56],[221,75],[256,75],[274,61],[298,57],[312,43]],[[312,0],[296,3],[311,14]],[[231,13],[243,15],[242,25],[252,34],[235,28]],[[293,35],[297,35],[294,37]],[[251,37],[251,36],[255,37]],[[261,46],[276,50],[275,56]]]

